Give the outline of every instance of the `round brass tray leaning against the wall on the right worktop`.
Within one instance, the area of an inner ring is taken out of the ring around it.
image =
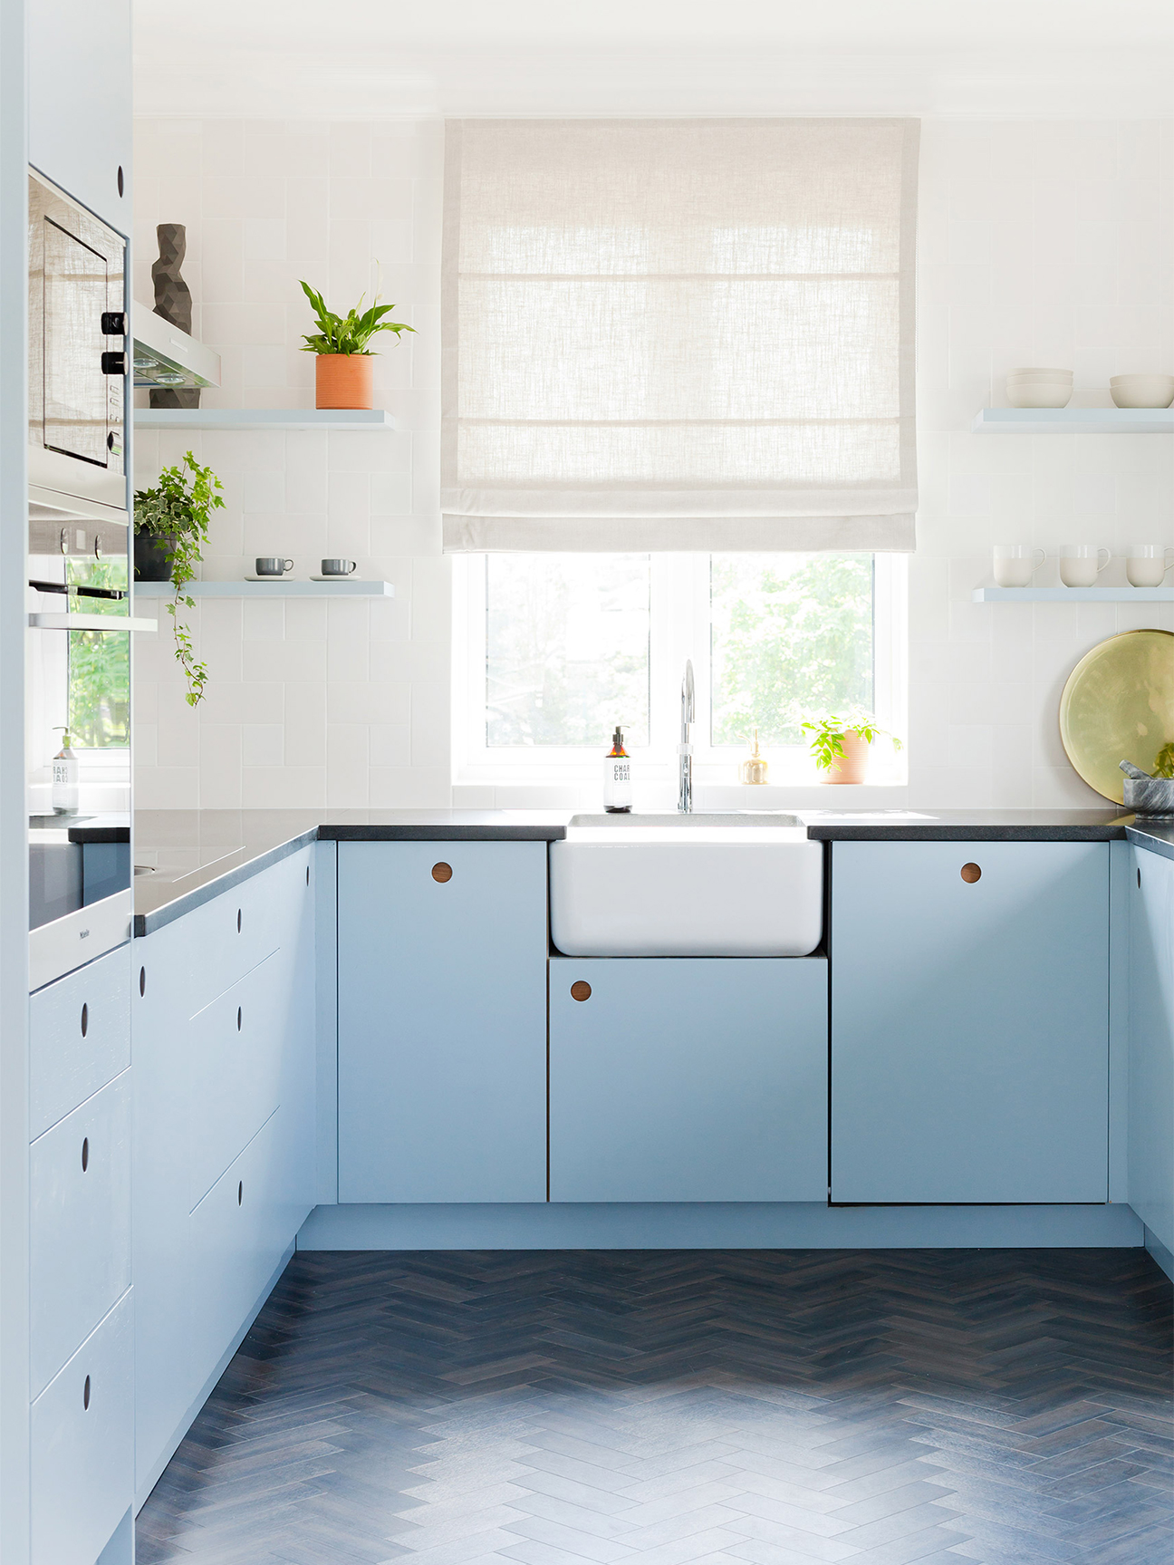
[[[1174,740],[1174,631],[1124,631],[1085,653],[1060,696],[1060,739],[1077,775],[1121,804],[1121,762],[1152,772]]]

